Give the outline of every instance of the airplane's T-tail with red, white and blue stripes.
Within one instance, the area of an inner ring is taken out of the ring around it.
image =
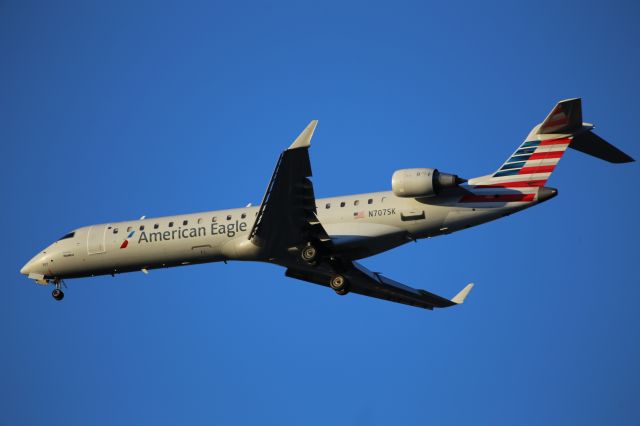
[[[593,133],[593,128],[593,124],[582,122],[580,98],[560,101],[498,170],[491,175],[469,180],[469,185],[472,188],[538,188],[537,193],[523,191],[530,194],[524,194],[522,200],[510,201],[534,201],[534,198],[544,201],[555,195],[555,190],[544,191],[547,189],[544,187],[567,148],[610,163],[634,161]]]

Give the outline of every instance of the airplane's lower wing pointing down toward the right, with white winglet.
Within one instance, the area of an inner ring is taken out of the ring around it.
[[[315,267],[296,265],[289,267],[285,275],[328,286],[331,277],[337,273],[345,277],[349,283],[350,292],[429,310],[459,305],[464,302],[464,299],[473,288],[473,284],[467,284],[456,296],[452,299],[447,299],[426,290],[419,290],[401,284],[382,274],[372,272],[357,262],[343,263],[339,268],[339,272],[328,265]]]

